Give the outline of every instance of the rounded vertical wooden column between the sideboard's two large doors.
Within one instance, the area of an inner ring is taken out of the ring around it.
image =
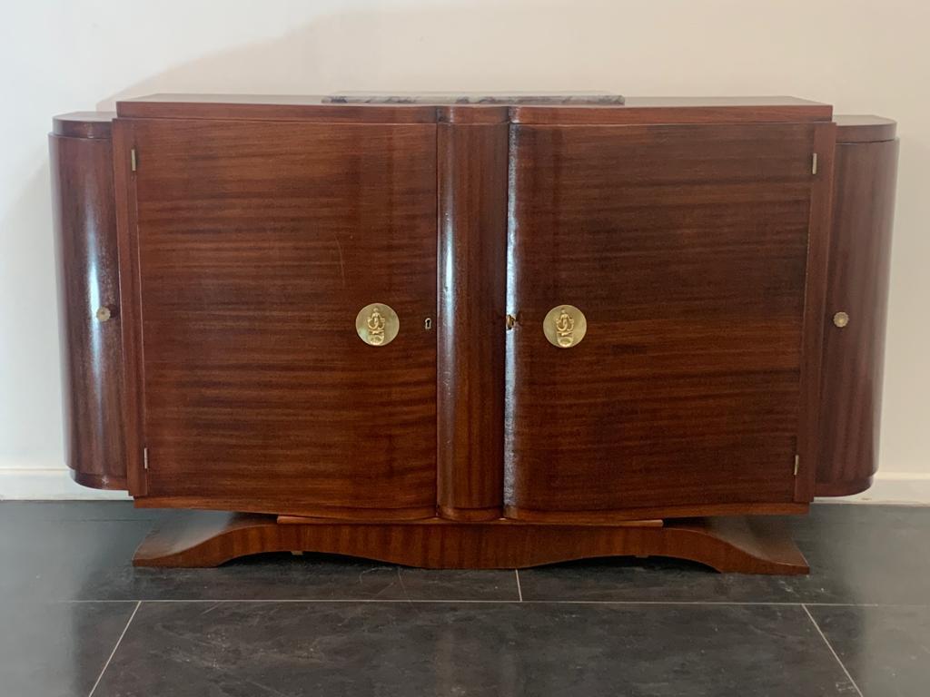
[[[503,503],[508,127],[437,126],[437,500],[448,519],[496,519]]]

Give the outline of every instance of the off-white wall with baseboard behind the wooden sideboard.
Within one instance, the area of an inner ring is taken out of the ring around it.
[[[796,95],[901,138],[881,497],[930,502],[925,0],[30,0],[0,15],[0,497],[63,471],[46,132],[156,91],[605,89]]]

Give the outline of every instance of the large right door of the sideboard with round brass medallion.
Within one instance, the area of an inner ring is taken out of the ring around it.
[[[832,134],[514,127],[510,516],[806,500],[812,470],[799,483],[795,455],[810,451],[817,364],[805,303],[816,333]],[[567,308],[552,324],[562,348],[544,322],[567,306],[583,318]]]

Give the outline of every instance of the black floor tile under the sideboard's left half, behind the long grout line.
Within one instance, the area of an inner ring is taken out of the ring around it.
[[[328,555],[260,555],[217,569],[136,569],[151,513],[122,504],[0,504],[0,593],[40,599],[515,600],[512,571],[426,571]],[[49,509],[48,519],[41,511]],[[12,513],[10,510],[12,509]],[[161,515],[161,514],[160,514]],[[184,515],[183,512],[168,515]],[[222,515],[222,514],[219,514]]]

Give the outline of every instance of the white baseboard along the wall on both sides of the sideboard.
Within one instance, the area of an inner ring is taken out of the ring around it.
[[[122,492],[88,489],[63,467],[0,467],[0,501],[127,500]],[[818,499],[839,503],[930,506],[930,474],[879,472],[869,491],[855,496]]]

